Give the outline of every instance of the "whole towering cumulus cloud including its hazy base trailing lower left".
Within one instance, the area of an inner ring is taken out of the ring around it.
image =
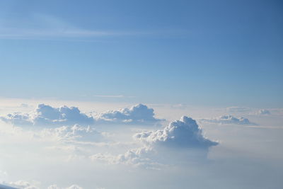
[[[160,169],[166,164],[178,164],[176,159],[187,161],[188,158],[205,158],[209,147],[218,144],[205,138],[197,122],[186,116],[171,122],[163,130],[141,132],[134,134],[134,138],[143,142],[145,146],[130,149],[118,156],[95,154],[90,158],[108,164]]]

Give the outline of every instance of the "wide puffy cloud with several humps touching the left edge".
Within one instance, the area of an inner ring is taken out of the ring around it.
[[[4,122],[13,125],[93,125],[94,119],[81,113],[79,108],[67,107],[53,108],[50,105],[39,104],[32,113],[13,113],[1,116]]]

